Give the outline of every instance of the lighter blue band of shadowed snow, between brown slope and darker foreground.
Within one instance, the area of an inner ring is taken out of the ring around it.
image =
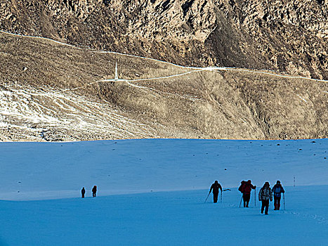
[[[311,142],[0,143],[0,199],[73,198],[82,186],[91,195],[93,185],[99,195],[195,190],[208,188],[216,179],[224,187],[237,187],[242,179],[258,185],[280,179],[293,186],[294,176],[296,185],[328,185],[328,141]]]

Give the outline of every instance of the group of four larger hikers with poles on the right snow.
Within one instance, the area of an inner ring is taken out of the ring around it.
[[[238,190],[242,193],[242,200],[244,200],[244,207],[249,207],[249,200],[251,200],[251,190],[255,190],[256,186],[253,186],[251,181],[242,181]],[[213,190],[213,200],[214,203],[218,202],[218,191],[221,190],[222,194],[222,186],[218,181],[215,181],[211,188],[209,189],[209,194]],[[270,188],[270,183],[265,182],[263,187],[260,189],[258,193],[258,200],[262,202],[261,214],[263,212],[268,214],[269,211],[269,203],[274,199],[275,210],[280,209],[280,200],[282,197],[282,193],[284,193],[284,188],[282,184],[278,180],[273,188]],[[208,197],[208,196],[207,196]],[[242,201],[240,201],[242,202]]]

